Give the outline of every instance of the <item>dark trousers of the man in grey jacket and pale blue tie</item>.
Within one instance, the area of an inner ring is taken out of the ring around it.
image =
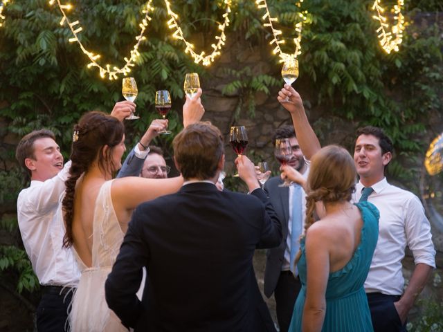
[[[293,305],[296,303],[300,292],[300,279],[295,278],[291,271],[282,271],[275,287],[274,298],[277,311],[278,326],[280,332],[287,332],[293,313]]]

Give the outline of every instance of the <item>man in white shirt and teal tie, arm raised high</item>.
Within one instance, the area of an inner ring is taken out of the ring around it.
[[[287,98],[289,102],[285,101]],[[318,140],[300,95],[285,85],[278,100],[291,113],[300,145],[309,150],[310,159],[320,145],[316,144]],[[392,159],[392,151],[392,141],[382,129],[368,126],[357,131],[354,163],[360,181],[353,201],[369,201],[380,212],[379,240],[365,282],[375,332],[406,331],[408,312],[435,268],[431,225],[422,203],[412,192],[386,181],[385,169]],[[401,261],[406,246],[413,252],[415,269],[404,288]]]

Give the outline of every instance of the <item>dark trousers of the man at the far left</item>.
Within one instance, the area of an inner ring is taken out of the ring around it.
[[[71,304],[71,288],[43,286],[42,299],[37,307],[37,331],[68,331],[68,308]]]

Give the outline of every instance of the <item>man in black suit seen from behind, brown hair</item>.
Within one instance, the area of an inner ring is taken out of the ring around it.
[[[105,285],[109,308],[136,331],[273,331],[252,259],[255,248],[278,246],[282,232],[253,163],[236,160],[250,195],[219,192],[224,146],[207,122],[174,138],[174,159],[185,183],[135,210]]]

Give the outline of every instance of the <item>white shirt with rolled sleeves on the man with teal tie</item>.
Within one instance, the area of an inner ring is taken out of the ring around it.
[[[401,295],[404,288],[401,260],[408,246],[415,264],[424,263],[435,268],[435,249],[431,225],[418,197],[412,192],[390,185],[386,178],[371,186],[374,192],[368,201],[380,212],[379,240],[372,257],[366,293]],[[356,185],[354,202],[361,197],[363,185]]]

